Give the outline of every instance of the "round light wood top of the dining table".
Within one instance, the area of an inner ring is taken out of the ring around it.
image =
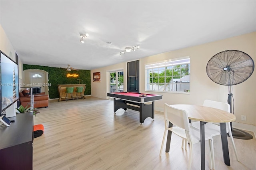
[[[177,109],[185,110],[188,113],[188,119],[201,122],[226,123],[236,120],[236,116],[232,113],[205,107],[199,105],[170,105]]]

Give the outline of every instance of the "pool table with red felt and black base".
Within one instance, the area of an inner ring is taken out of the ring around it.
[[[154,101],[162,99],[162,95],[135,92],[115,92],[107,93],[107,95],[114,98],[114,114],[120,108],[125,111],[127,108],[139,111],[141,124],[148,117],[154,120]]]

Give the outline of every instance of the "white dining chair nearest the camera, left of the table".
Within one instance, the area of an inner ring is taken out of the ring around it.
[[[169,127],[169,122],[175,126]],[[200,143],[200,130],[190,125],[188,121],[188,114],[186,111],[181,109],[176,109],[166,103],[164,105],[164,123],[165,123],[165,129],[164,129],[164,137],[162,140],[162,145],[160,150],[160,156],[162,155],[162,149],[164,146],[166,132],[167,130],[170,130],[174,134],[182,138],[182,148],[183,148],[184,141],[188,141],[188,143],[190,144],[189,145],[190,152],[189,152],[189,160],[188,160],[188,169],[190,169],[191,162],[192,162],[193,145],[196,143]],[[205,140],[208,140],[209,146],[210,146],[210,167],[212,166],[213,169],[215,169],[212,136],[208,133],[205,133]]]

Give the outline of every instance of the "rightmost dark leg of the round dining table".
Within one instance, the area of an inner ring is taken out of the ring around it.
[[[221,136],[221,144],[222,144],[222,152],[223,152],[224,163],[226,165],[230,166],[226,123],[220,123],[220,136]]]

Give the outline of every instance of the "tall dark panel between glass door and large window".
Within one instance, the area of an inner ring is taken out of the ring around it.
[[[127,91],[140,92],[140,60],[127,63]]]

